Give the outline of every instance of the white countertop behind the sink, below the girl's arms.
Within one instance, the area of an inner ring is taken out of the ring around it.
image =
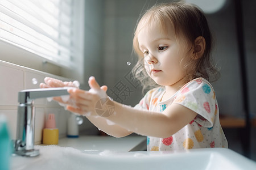
[[[146,137],[129,135],[123,138],[81,135],[79,138],[61,138],[58,146],[73,147],[81,151],[144,151]]]

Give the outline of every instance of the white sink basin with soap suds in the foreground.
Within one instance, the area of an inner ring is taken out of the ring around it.
[[[227,148],[175,152],[81,151],[72,147],[35,146],[35,158],[13,156],[11,169],[256,169],[256,163]]]

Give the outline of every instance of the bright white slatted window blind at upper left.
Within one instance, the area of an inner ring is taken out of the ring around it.
[[[73,0],[0,0],[0,40],[72,67],[77,47]]]

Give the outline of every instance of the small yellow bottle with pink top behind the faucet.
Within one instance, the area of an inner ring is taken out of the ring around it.
[[[43,144],[57,145],[59,142],[59,129],[56,128],[54,114],[48,114],[46,128],[43,129]]]

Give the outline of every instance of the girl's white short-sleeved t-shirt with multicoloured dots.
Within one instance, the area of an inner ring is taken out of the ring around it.
[[[164,87],[148,91],[135,108],[162,112],[168,105],[177,103],[196,112],[197,116],[171,137],[147,137],[147,151],[228,147],[220,125],[215,92],[207,80],[204,78],[193,79],[181,87],[170,99],[161,101],[164,92]]]

